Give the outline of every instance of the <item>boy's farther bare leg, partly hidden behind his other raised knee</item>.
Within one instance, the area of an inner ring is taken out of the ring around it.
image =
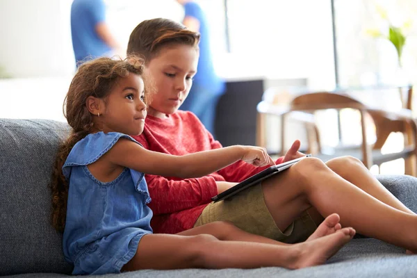
[[[379,201],[405,213],[415,214],[382,186],[359,159],[352,156],[342,156],[327,161],[326,165],[343,179],[350,181],[350,183],[379,199]]]

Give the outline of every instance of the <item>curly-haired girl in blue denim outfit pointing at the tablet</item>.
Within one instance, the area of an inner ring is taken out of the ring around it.
[[[54,227],[64,232],[63,251],[74,275],[143,268],[302,268],[324,263],[352,238],[354,229],[341,229],[336,214],[300,245],[247,234],[227,222],[177,236],[152,234],[142,172],[199,177],[239,159],[256,166],[273,161],[259,147],[185,156],[144,149],[126,134],[142,133],[146,92],[142,60],[133,57],[87,62],[70,85],[65,112],[72,133],[58,152],[52,201]]]

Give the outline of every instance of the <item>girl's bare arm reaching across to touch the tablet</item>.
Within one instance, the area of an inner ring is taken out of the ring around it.
[[[274,165],[265,149],[252,146],[231,146],[210,151],[172,156],[149,151],[136,142],[121,138],[109,151],[108,159],[115,165],[138,172],[165,177],[202,177],[238,160],[255,166]]]

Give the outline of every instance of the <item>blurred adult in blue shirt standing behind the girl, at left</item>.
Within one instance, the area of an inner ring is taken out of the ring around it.
[[[106,24],[106,5],[103,0],[72,2],[71,35],[77,67],[86,58],[124,53]]]

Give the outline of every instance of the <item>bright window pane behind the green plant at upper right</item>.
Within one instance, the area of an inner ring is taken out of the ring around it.
[[[342,87],[413,82],[417,80],[417,2],[414,0],[334,0],[338,77]],[[381,13],[386,13],[384,19]],[[369,30],[386,34],[388,20],[402,26],[411,19],[411,33],[398,71],[395,47],[384,38],[373,38]],[[399,74],[401,76],[399,76]]]

